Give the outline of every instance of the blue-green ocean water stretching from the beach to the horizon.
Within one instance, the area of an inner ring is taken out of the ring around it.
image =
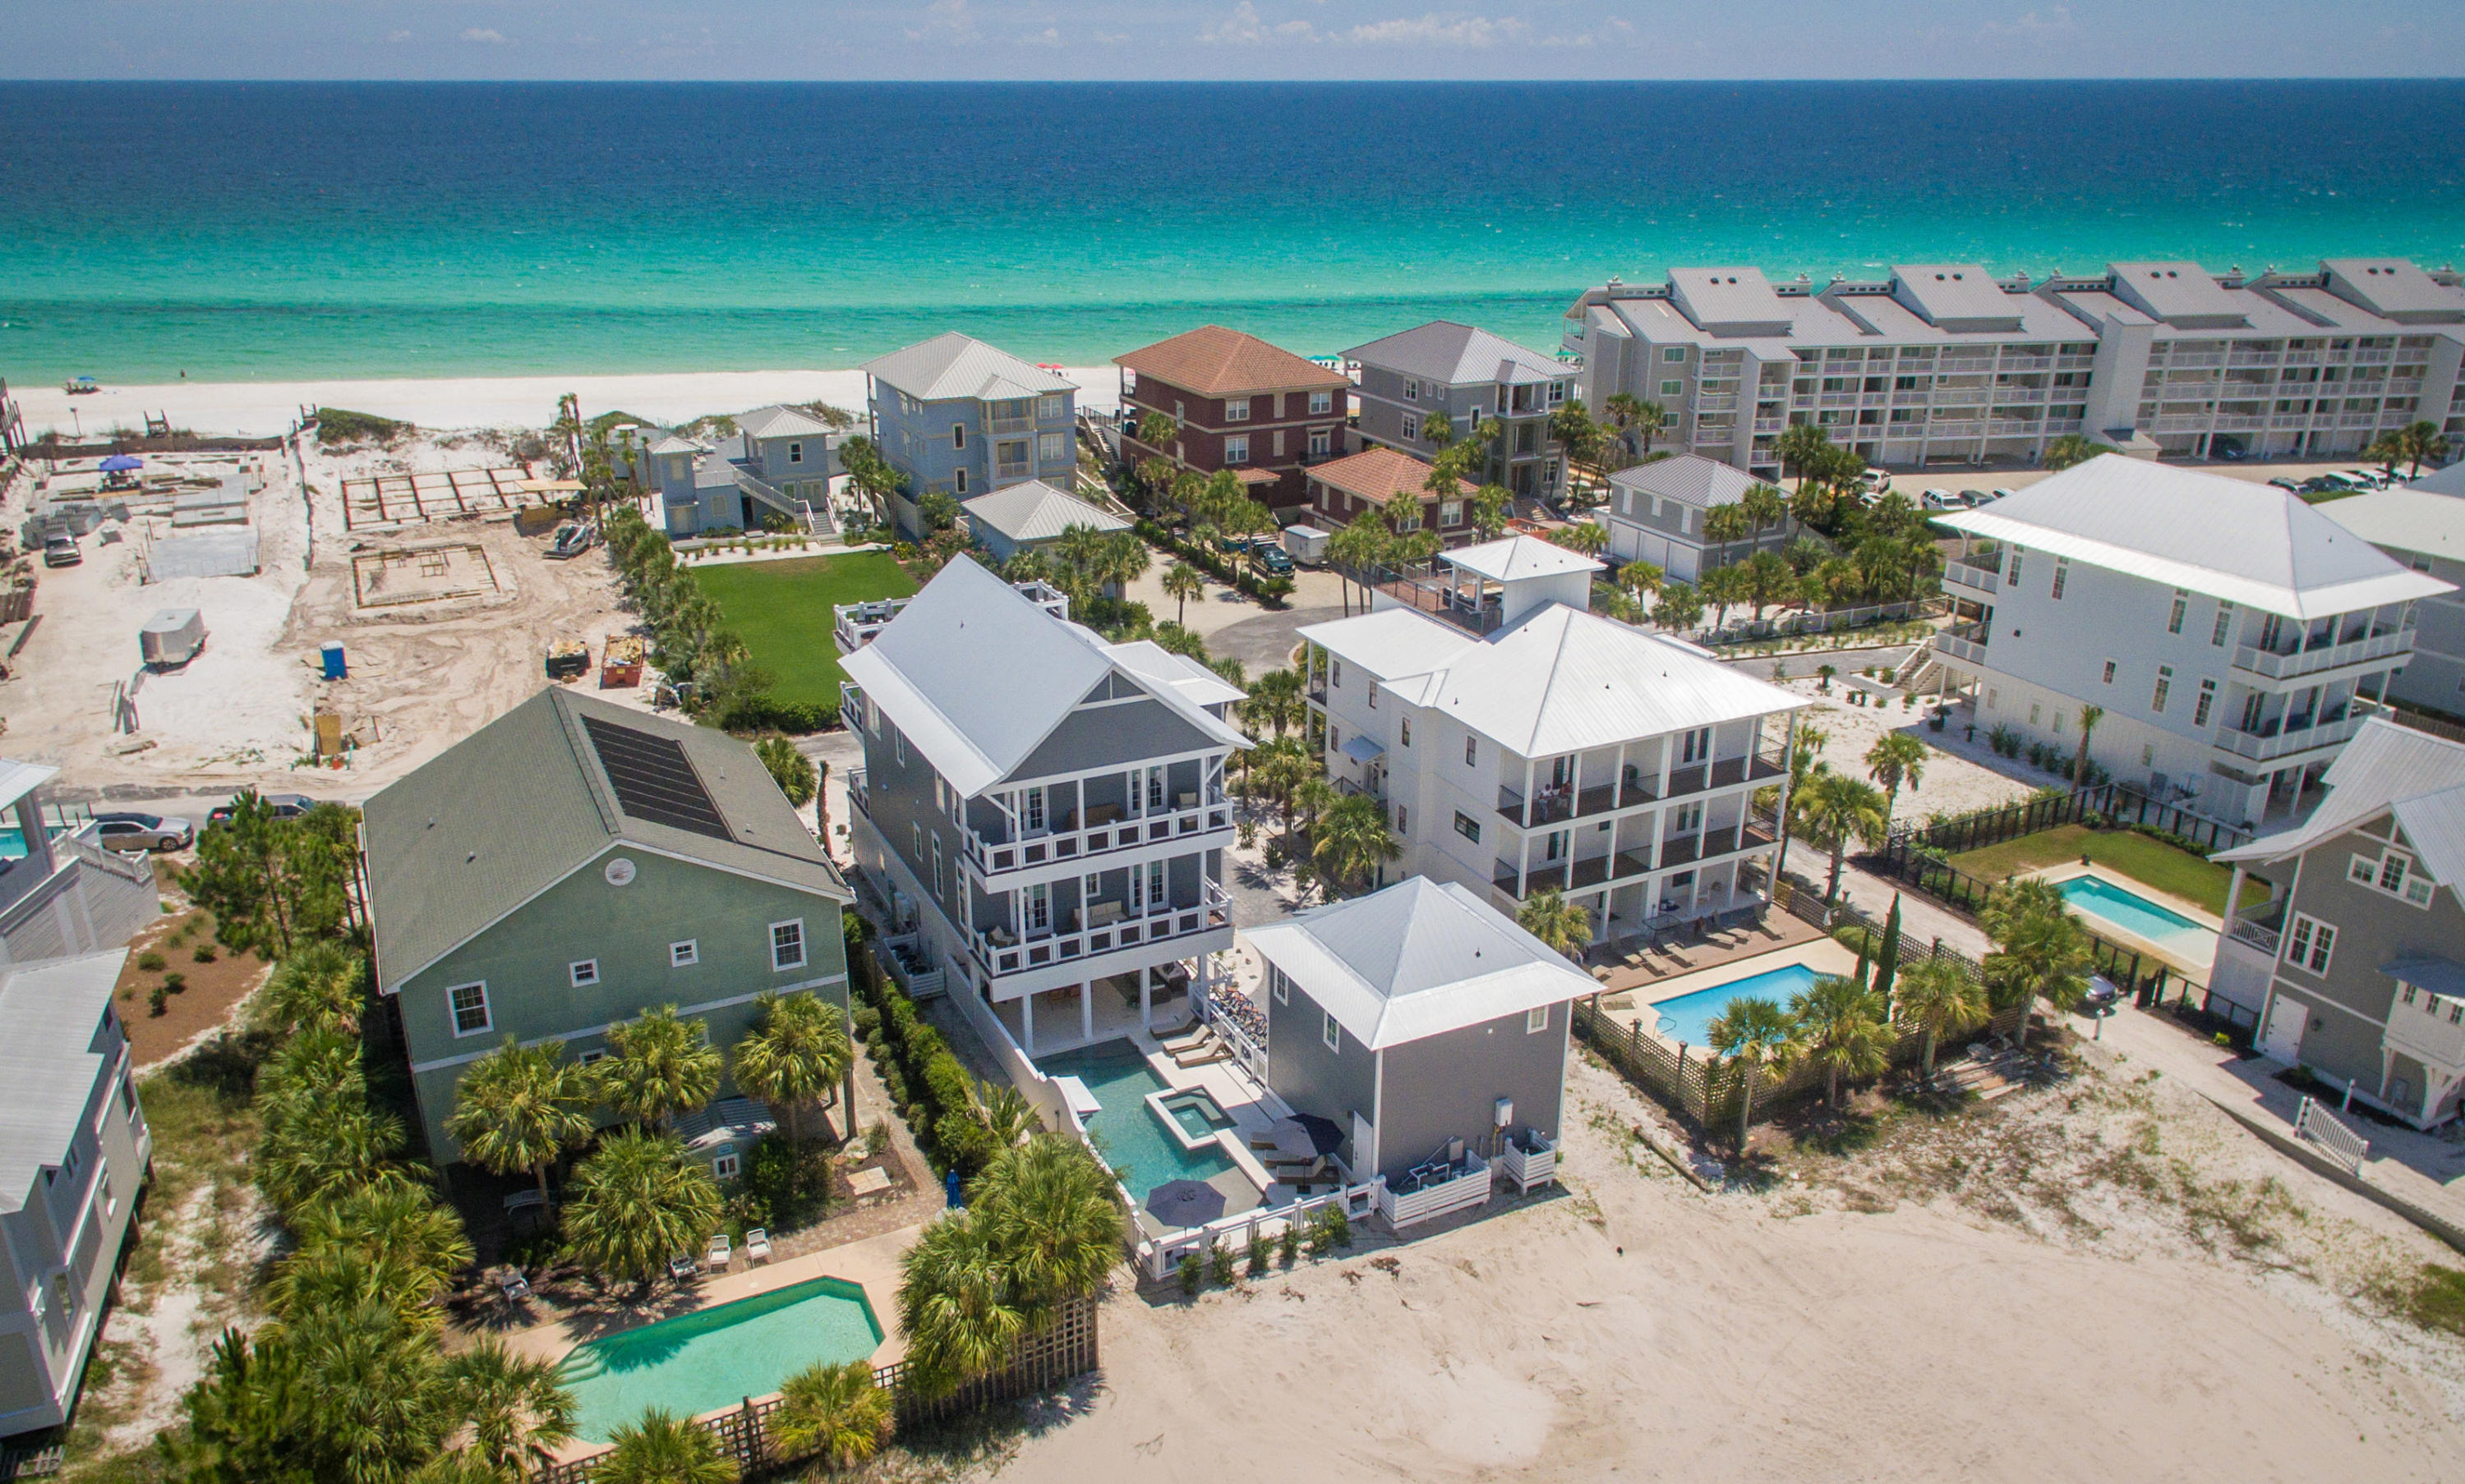
[[[1555,345],[1671,264],[2465,259],[2465,81],[0,84],[0,375]]]

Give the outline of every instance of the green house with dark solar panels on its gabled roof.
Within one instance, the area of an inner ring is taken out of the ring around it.
[[[439,1164],[463,1070],[505,1038],[597,1060],[658,1006],[722,1050],[764,991],[845,1013],[848,885],[725,732],[547,688],[370,799],[360,841]]]

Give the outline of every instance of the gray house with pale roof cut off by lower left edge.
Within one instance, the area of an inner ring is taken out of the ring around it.
[[[126,956],[0,969],[0,1442],[76,1410],[153,1159],[111,1011]]]

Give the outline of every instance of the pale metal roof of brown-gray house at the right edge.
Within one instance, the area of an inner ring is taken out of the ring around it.
[[[2416,863],[2440,885],[2465,885],[2465,744],[2371,717],[2327,767],[2324,781],[2327,799],[2310,818],[2218,850],[2214,860],[2290,860],[2394,811]]]

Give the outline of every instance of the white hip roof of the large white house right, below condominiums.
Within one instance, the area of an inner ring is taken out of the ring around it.
[[[2120,454],[1935,523],[2292,619],[2450,592],[2288,491]]]

